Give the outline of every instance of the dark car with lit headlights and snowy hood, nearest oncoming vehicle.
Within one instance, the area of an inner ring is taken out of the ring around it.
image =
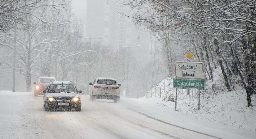
[[[76,86],[71,81],[51,82],[43,91],[43,107],[45,111],[69,110],[81,111],[81,99]]]

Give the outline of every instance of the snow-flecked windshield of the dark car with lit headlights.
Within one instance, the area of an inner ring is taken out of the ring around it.
[[[51,84],[48,93],[77,92],[73,84]]]

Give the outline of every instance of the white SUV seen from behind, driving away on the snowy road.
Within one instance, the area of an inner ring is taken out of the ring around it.
[[[96,78],[94,82],[89,83],[91,87],[91,101],[95,99],[114,99],[114,102],[120,100],[120,90],[114,78]]]

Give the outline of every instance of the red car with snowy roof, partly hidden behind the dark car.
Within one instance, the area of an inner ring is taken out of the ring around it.
[[[56,81],[54,77],[39,77],[38,82],[34,82],[35,91],[34,95],[43,95],[43,91],[46,90],[48,84],[52,81]]]

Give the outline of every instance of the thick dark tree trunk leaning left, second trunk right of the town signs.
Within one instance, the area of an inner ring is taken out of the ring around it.
[[[223,63],[222,63],[221,54],[220,54],[221,52],[219,50],[220,48],[219,48],[217,38],[214,40],[214,44],[215,44],[215,47],[216,47],[216,55],[217,55],[216,58],[217,58],[218,63],[220,65],[220,68],[221,68],[221,71],[222,71],[222,74],[223,74],[223,77],[224,77],[225,85],[227,87],[227,90],[231,91],[231,88],[230,88],[230,85],[229,85],[229,82],[228,82],[228,78],[227,78],[227,74],[226,74],[226,71],[225,71]]]

